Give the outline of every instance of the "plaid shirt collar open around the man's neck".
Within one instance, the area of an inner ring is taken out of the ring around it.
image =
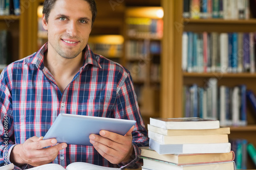
[[[33,57],[29,58],[26,63],[35,64],[38,69],[43,69],[45,67],[44,54],[47,52],[47,50],[48,50],[48,42],[42,45],[42,47],[36,53],[34,53]],[[94,66],[101,68],[101,65],[99,63],[99,58],[97,57],[97,55],[93,53],[89,45],[87,45],[83,49],[83,51],[84,51],[84,62],[83,62],[82,69],[84,69],[88,64],[92,64]]]

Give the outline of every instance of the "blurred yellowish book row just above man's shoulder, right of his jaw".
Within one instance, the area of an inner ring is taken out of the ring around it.
[[[123,55],[123,44],[104,44],[88,42],[92,51],[108,58],[121,58]]]

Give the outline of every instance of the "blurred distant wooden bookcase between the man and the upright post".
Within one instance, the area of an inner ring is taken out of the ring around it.
[[[127,7],[124,15],[124,66],[133,77],[145,124],[150,117],[159,117],[161,76],[152,73],[160,66],[161,54],[153,54],[150,48],[154,42],[161,46],[162,35],[148,31],[148,27],[162,19],[156,15],[161,10],[162,7]],[[138,50],[141,48],[144,50]]]

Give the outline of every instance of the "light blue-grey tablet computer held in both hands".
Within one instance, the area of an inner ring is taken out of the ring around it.
[[[60,113],[43,139],[55,138],[58,143],[92,145],[90,134],[106,130],[125,135],[135,123],[135,120]]]

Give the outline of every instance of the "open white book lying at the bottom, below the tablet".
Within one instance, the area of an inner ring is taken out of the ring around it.
[[[99,166],[99,165],[94,165],[91,163],[86,163],[86,162],[73,162],[69,164],[66,169],[62,167],[59,164],[56,163],[49,163],[41,166],[36,166],[33,168],[30,168],[31,170],[83,170],[83,169],[88,169],[88,170],[114,170],[114,169],[120,169],[120,168],[113,168],[113,167],[104,167],[104,166]]]

